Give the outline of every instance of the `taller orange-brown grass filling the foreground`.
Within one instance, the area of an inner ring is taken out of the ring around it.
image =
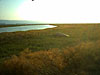
[[[4,61],[1,75],[99,75],[100,40],[66,49],[24,50]]]

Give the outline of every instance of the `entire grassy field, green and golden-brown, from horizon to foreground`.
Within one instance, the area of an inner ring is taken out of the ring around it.
[[[99,75],[100,25],[53,25],[0,33],[0,75]]]

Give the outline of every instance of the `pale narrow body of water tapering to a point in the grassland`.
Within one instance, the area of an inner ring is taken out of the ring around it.
[[[56,26],[53,26],[53,25],[29,25],[29,26],[4,27],[4,28],[0,28],[0,33],[28,31],[28,30],[41,30],[41,29],[54,28],[54,27],[56,27]]]

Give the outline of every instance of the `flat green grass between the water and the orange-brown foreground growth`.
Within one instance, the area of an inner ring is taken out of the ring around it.
[[[32,51],[66,48],[81,42],[100,40],[100,25],[57,25],[39,31],[0,33],[0,59],[29,48]],[[57,37],[56,33],[70,37]]]

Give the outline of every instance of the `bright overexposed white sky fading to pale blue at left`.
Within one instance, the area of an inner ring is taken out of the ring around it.
[[[100,0],[0,0],[0,20],[100,23]]]

